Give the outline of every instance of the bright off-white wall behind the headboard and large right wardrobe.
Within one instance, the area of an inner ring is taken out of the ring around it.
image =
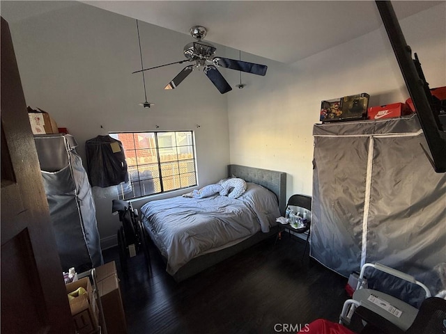
[[[446,86],[445,13],[442,3],[400,22],[431,88]],[[291,66],[250,61],[268,72],[245,75],[248,86],[228,95],[231,164],[286,172],[288,197],[312,195],[312,130],[322,100],[369,93],[376,106],[409,97],[383,26]]]

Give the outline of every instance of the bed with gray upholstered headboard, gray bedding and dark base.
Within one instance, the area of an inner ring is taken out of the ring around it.
[[[243,195],[177,196],[141,207],[144,233],[177,282],[277,233],[275,218],[286,205],[286,173],[229,165],[228,177],[245,180]]]

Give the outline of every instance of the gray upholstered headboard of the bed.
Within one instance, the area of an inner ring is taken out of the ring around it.
[[[264,186],[276,194],[280,213],[284,215],[286,207],[286,173],[240,165],[228,165],[228,176],[240,177],[246,182]]]

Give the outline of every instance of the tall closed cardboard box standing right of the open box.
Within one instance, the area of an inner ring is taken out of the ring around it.
[[[106,264],[107,265],[107,264]],[[101,266],[103,267],[103,266]],[[109,267],[110,268],[110,267]],[[126,334],[127,324],[118,275],[112,273],[96,283],[108,334]]]

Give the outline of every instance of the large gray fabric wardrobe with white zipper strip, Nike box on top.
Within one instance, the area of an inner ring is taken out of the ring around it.
[[[313,135],[311,256],[346,277],[379,262],[446,289],[446,173],[426,158],[417,116],[314,125]]]

